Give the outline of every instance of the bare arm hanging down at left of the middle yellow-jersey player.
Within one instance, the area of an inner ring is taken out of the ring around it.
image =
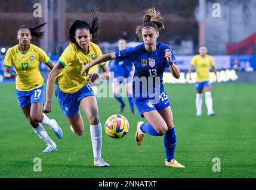
[[[58,74],[62,71],[64,66],[57,62],[57,64],[54,66],[53,70],[51,70],[50,74],[48,75],[47,79],[47,88],[46,88],[46,103],[44,106],[44,113],[51,112],[51,99],[53,96],[53,87],[54,87],[54,80],[55,77],[57,77]]]

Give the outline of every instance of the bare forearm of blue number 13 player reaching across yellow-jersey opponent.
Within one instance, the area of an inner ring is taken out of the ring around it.
[[[82,67],[82,71],[81,71],[81,75],[83,75],[84,73],[88,74],[89,69],[97,64],[112,60],[112,59],[116,59],[116,53],[112,52],[112,53],[106,53],[100,57],[98,57],[97,59],[95,59],[94,61],[84,65]]]

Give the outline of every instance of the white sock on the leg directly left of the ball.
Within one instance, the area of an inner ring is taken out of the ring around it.
[[[101,157],[102,129],[100,122],[97,125],[90,125],[91,143],[94,159]]]

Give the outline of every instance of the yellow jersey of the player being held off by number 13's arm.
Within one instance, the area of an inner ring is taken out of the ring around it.
[[[82,66],[102,55],[100,47],[90,42],[87,53],[83,52],[74,43],[70,43],[61,54],[58,62],[64,66],[55,78],[58,87],[64,93],[73,94],[89,83],[87,75],[81,75]],[[99,64],[101,67],[106,63]],[[96,65],[97,66],[97,65]],[[91,72],[91,69],[90,69]]]

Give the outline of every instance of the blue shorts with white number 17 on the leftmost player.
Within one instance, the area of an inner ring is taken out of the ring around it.
[[[32,103],[44,102],[44,85],[30,91],[19,91],[16,89],[18,104],[21,109]]]

